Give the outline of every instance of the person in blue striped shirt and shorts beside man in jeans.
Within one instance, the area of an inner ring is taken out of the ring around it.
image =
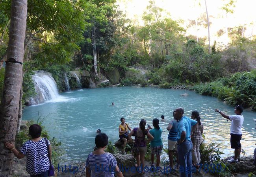
[[[174,117],[174,112],[173,112],[173,117]],[[178,167],[179,165],[179,159],[178,159],[178,153],[177,153],[177,136],[178,136],[178,122],[174,118],[171,120],[169,123],[167,130],[169,131],[168,135],[168,156],[169,156],[169,161],[170,161],[170,167],[173,168],[173,153],[176,153],[176,162]]]

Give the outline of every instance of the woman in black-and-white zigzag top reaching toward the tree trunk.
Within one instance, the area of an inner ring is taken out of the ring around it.
[[[15,149],[12,143],[5,143],[5,146],[10,149],[16,157],[22,159],[27,157],[26,170],[31,177],[47,177],[50,168],[47,146],[49,146],[50,156],[52,147],[50,141],[41,137],[42,128],[40,125],[33,124],[29,127],[29,134],[32,140],[28,140],[20,148],[20,152]]]

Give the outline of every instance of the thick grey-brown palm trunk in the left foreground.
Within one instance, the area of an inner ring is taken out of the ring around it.
[[[23,61],[26,32],[27,0],[12,0],[7,61]],[[0,175],[12,173],[13,153],[4,142],[15,142],[22,79],[20,63],[6,63],[4,88],[0,104]]]

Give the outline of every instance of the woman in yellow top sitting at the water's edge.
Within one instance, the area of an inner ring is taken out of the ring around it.
[[[120,121],[121,121],[121,124],[119,125],[119,138],[124,142],[122,146],[123,148],[125,148],[127,142],[132,143],[132,138],[128,137],[128,130],[131,131],[132,129],[129,127],[127,123],[125,123],[125,118],[122,117]]]

